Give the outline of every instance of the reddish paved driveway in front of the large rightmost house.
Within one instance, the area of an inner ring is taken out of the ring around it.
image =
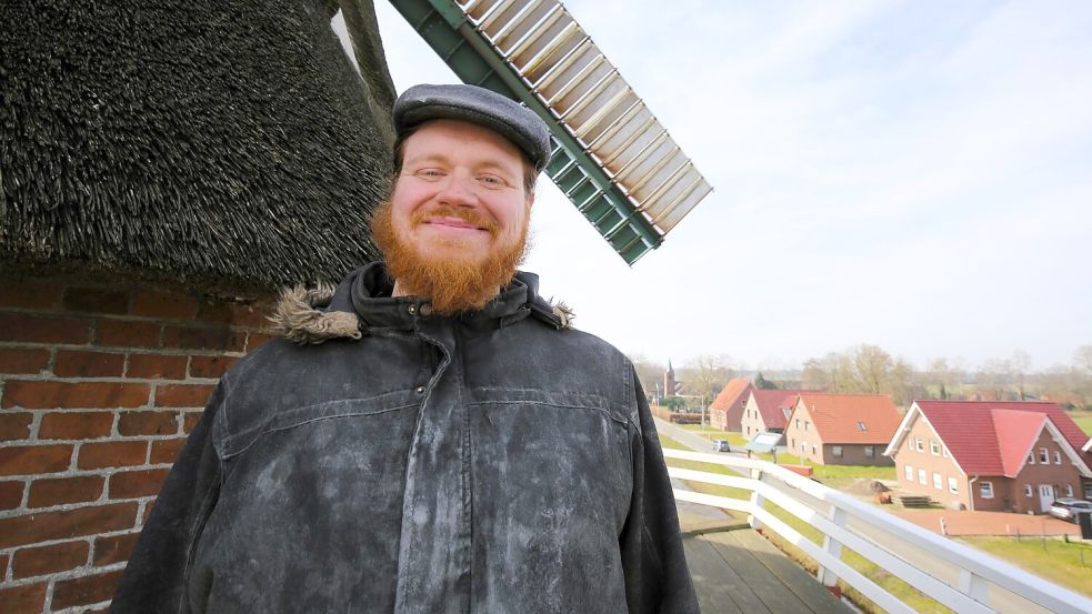
[[[884,511],[941,535],[1064,535],[1080,538],[1081,527],[1053,516],[1005,512],[955,512],[948,510]],[[941,521],[943,520],[943,529]]]

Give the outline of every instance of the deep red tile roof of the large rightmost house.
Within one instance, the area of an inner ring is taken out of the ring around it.
[[[915,401],[968,475],[1015,475],[1049,417],[1080,452],[1088,435],[1056,404],[1041,401]],[[1023,414],[1023,415],[1021,415]],[[1092,454],[1084,452],[1085,464]],[[1012,473],[1010,473],[1012,472]]]

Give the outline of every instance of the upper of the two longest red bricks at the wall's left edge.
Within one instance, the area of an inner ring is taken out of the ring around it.
[[[148,403],[148,384],[11,381],[4,385],[0,406],[38,410],[139,407]]]

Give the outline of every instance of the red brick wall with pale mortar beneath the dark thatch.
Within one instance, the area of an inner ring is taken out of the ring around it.
[[[107,610],[186,434],[263,324],[252,304],[0,279],[0,611]]]

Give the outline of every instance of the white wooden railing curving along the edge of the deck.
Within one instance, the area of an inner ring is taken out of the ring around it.
[[[955,612],[1092,613],[1088,597],[773,463],[671,449],[663,454],[741,472],[733,476],[668,466],[672,477],[750,491],[748,500],[684,490],[674,494],[678,501],[750,514],[752,527],[772,531],[814,558],[820,582],[833,586],[841,578],[888,612],[914,610],[843,562],[843,545]],[[765,502],[819,530],[822,545],[771,513]]]

